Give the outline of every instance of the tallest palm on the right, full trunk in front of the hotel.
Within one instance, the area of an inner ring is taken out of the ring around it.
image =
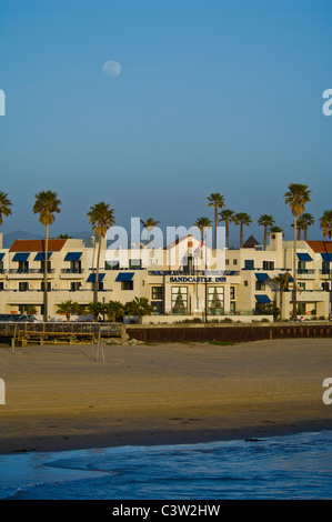
[[[285,192],[285,203],[290,205],[294,217],[294,249],[293,249],[293,320],[298,317],[298,302],[296,302],[296,224],[298,218],[303,214],[305,204],[311,201],[308,184],[291,183]]]

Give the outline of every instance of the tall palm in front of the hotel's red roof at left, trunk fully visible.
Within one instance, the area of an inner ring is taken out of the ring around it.
[[[56,220],[54,212],[60,212],[61,201],[57,192],[46,190],[36,194],[33,213],[39,214],[39,221],[46,228],[44,260],[43,260],[43,320],[48,321],[48,261],[49,261],[49,227]]]

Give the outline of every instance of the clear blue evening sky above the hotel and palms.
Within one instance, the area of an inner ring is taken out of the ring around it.
[[[299,182],[312,191],[309,239],[322,239],[331,23],[330,0],[0,0],[1,231],[43,233],[42,190],[62,202],[53,235],[89,230],[100,201],[119,227],[189,228],[213,219],[207,198],[220,192],[251,215],[244,239],[262,241],[263,213],[291,239],[284,193]]]

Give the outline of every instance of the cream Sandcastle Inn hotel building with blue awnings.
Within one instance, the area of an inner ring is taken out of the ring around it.
[[[42,240],[17,240],[3,249],[0,237],[0,313],[24,312],[33,305],[43,313],[44,252]],[[48,310],[51,320],[58,304],[72,300],[81,305],[93,301],[97,245],[79,239],[52,239],[48,254]],[[211,261],[212,260],[212,261]],[[208,263],[209,261],[209,263]],[[331,297],[332,243],[298,241],[296,278],[299,315],[328,318]],[[208,267],[208,268],[207,268]],[[147,298],[154,313],[143,322],[201,320],[273,321],[280,308],[280,289],[271,280],[289,272],[283,295],[283,319],[292,312],[293,242],[271,233],[264,249],[249,244],[238,250],[212,251],[185,237],[164,249],[130,250],[101,245],[99,301]]]

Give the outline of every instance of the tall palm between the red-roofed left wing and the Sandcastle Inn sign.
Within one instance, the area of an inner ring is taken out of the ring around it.
[[[90,224],[92,230],[98,238],[98,254],[95,263],[95,278],[93,284],[93,302],[98,302],[98,288],[99,288],[99,263],[100,263],[100,251],[101,241],[105,237],[107,231],[115,223],[114,209],[110,209],[109,203],[101,201],[90,208],[88,212]]]

